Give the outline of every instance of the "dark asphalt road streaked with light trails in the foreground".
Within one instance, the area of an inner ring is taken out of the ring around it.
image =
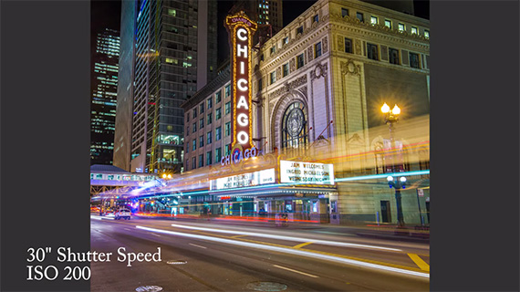
[[[136,254],[161,247],[161,261],[127,266],[120,247]],[[428,245],[320,228],[92,216],[91,251],[113,254],[91,262],[91,291],[428,291],[430,284]]]

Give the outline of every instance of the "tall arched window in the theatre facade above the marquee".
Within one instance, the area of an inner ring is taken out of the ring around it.
[[[282,120],[282,148],[299,148],[307,144],[307,109],[300,101],[291,103]]]

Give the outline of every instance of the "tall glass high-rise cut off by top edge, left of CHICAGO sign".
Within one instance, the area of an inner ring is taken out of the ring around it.
[[[114,165],[179,172],[180,105],[216,74],[216,2],[123,1],[121,43]]]

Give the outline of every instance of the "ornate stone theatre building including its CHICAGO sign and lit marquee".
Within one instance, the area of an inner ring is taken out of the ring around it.
[[[360,1],[319,0],[262,46],[252,44],[258,27],[244,14],[224,25],[229,67],[182,105],[183,175],[209,174],[203,200],[213,214],[373,222],[387,202],[387,222],[395,222],[384,177],[345,182],[388,169],[383,101],[406,110],[393,166],[428,167],[429,21]],[[428,206],[429,177],[409,182],[401,193],[411,223],[419,220],[418,201]]]

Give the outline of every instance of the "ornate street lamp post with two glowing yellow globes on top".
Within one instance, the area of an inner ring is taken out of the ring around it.
[[[390,110],[390,107],[386,102],[381,107],[381,112],[385,115],[385,123],[389,125],[389,131],[390,131],[390,151],[392,151],[391,154],[391,172],[395,173],[395,163],[394,163],[394,157],[393,151],[395,149],[395,141],[393,138],[393,132],[394,132],[394,126],[393,124],[396,123],[399,120],[400,115],[400,108],[397,106],[397,104],[393,107],[392,110]],[[404,226],[404,218],[402,216],[402,205],[400,203],[400,189],[405,188],[406,183],[406,177],[401,176],[399,180],[395,180],[393,176],[389,176],[387,178],[389,182],[390,188],[395,189],[395,203],[397,204],[397,222],[399,227]]]

